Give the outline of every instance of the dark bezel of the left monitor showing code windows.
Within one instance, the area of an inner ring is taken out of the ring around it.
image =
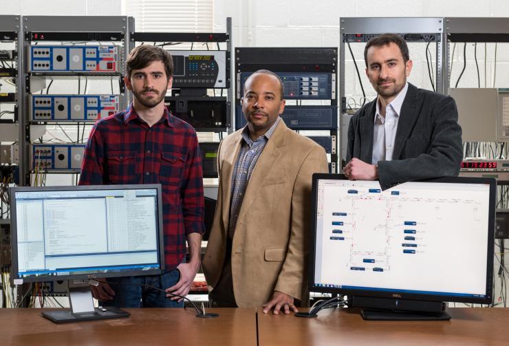
[[[132,270],[122,272],[98,272],[86,274],[67,274],[67,275],[39,275],[36,277],[20,277],[18,272],[18,248],[17,248],[17,216],[16,216],[16,193],[18,192],[37,192],[37,191],[105,191],[105,190],[137,190],[137,189],[155,189],[158,213],[158,260],[160,269],[153,270]],[[64,281],[80,279],[102,279],[109,277],[136,277],[142,275],[157,275],[164,272],[164,235],[162,221],[162,186],[161,184],[118,184],[118,185],[78,185],[78,186],[17,186],[10,188],[10,210],[11,210],[11,254],[12,254],[12,279],[25,282],[43,282],[43,281]]]

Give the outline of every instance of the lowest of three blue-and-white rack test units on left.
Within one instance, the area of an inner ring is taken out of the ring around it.
[[[30,169],[80,171],[85,144],[31,144]]]

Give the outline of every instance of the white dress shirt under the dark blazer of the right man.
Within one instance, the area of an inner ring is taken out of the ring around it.
[[[404,97],[407,96],[408,89],[409,83],[406,83],[403,89],[401,89],[400,94],[385,107],[385,116],[380,114],[380,100],[378,98],[376,100],[371,164],[378,164],[378,161],[392,160],[401,106],[403,105]]]

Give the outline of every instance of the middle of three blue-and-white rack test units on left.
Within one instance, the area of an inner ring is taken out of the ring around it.
[[[34,122],[95,122],[119,110],[118,95],[32,95],[30,100]]]

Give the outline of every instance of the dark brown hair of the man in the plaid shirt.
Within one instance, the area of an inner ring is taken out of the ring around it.
[[[166,78],[173,76],[173,59],[171,54],[161,47],[153,45],[138,45],[127,56],[125,63],[127,77],[131,77],[133,69],[142,69],[149,66],[153,61],[162,61]]]

